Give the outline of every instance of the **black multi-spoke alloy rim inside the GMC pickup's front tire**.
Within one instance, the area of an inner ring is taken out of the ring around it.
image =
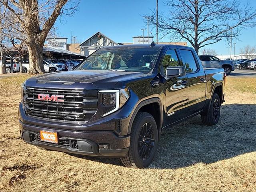
[[[139,134],[138,138],[138,153],[142,160],[147,160],[154,148],[155,138],[153,126],[150,123],[145,123]]]

